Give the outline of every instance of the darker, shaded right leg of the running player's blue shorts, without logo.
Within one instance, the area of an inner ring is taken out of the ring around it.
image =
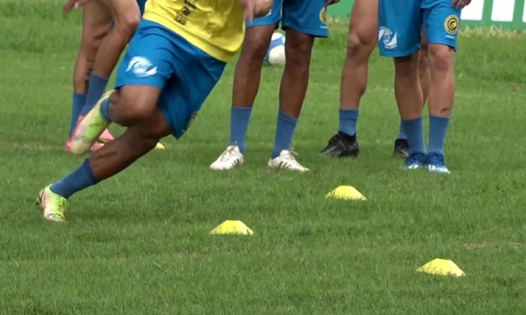
[[[180,138],[197,117],[226,64],[190,45],[178,48],[176,53],[181,57],[180,64],[161,92],[159,107],[172,134]]]

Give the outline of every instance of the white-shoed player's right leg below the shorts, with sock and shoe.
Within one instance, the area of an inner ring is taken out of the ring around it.
[[[291,143],[292,136],[302,111],[307,85],[314,37],[294,29],[286,29],[285,70],[279,90],[279,113],[276,125],[274,149],[269,160],[272,169],[290,169],[296,172],[308,172],[294,158]]]

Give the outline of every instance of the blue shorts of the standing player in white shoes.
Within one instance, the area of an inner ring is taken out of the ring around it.
[[[274,0],[270,13],[255,18],[247,27],[276,25],[277,28],[280,21],[282,29],[290,27],[307,35],[328,36],[325,0]]]

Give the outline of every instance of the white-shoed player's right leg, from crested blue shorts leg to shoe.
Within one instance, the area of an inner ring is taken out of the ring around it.
[[[281,79],[274,150],[269,160],[269,167],[273,169],[309,171],[295,160],[291,144],[309,83],[314,38],[328,36],[326,13],[324,1],[289,0],[283,3],[287,62]]]

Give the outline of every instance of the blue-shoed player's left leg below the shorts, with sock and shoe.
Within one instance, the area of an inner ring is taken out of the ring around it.
[[[394,58],[394,64],[396,103],[409,144],[409,156],[404,168],[419,169],[424,166],[426,152],[422,132],[424,97],[419,83],[419,52]]]

